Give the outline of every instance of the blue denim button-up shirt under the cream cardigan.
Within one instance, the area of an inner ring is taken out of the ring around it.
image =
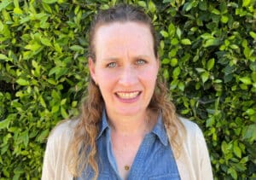
[[[99,180],[121,180],[118,166],[113,155],[111,143],[111,129],[105,111],[102,113],[102,125],[97,136]],[[92,179],[94,172],[90,168],[84,169],[78,179]],[[162,118],[159,116],[156,125],[151,132],[143,138],[143,142],[137,151],[137,155],[131,165],[127,180],[180,179],[177,164],[172,154],[172,148],[168,142],[166,129]]]

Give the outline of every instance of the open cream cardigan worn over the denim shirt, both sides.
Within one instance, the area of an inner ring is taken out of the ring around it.
[[[177,161],[177,169],[182,180],[212,180],[212,167],[207,144],[201,129],[195,123],[180,118],[187,135],[183,150]],[[72,180],[65,163],[73,126],[77,120],[68,120],[52,131],[44,154],[42,180]]]

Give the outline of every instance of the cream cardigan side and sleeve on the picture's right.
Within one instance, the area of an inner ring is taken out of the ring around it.
[[[207,143],[201,129],[188,119],[180,118],[185,130],[183,148],[177,158],[182,180],[212,180],[212,166]]]

